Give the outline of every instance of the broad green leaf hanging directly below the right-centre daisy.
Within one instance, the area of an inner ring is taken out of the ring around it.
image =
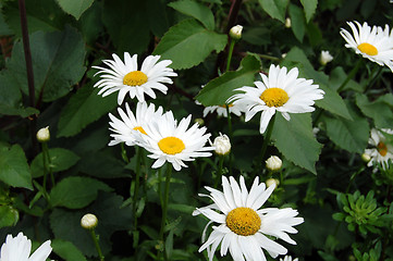
[[[286,121],[277,113],[272,140],[285,159],[314,174],[322,145],[312,135],[311,114],[292,113]]]

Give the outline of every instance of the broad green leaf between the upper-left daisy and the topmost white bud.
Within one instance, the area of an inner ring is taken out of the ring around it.
[[[196,20],[185,20],[168,30],[153,54],[172,60],[173,69],[189,69],[201,63],[213,50],[222,51],[226,39],[226,35],[208,30]]]

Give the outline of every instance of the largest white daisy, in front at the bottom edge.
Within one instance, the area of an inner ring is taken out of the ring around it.
[[[261,209],[275,185],[266,189],[265,183],[259,184],[259,178],[256,177],[248,192],[244,177],[241,176],[240,181],[238,185],[232,176],[230,181],[223,176],[223,192],[206,187],[210,195],[199,195],[209,197],[214,202],[193,212],[193,215],[202,214],[210,220],[204,231],[204,241],[207,227],[212,222],[219,223],[218,226],[212,226],[213,231],[199,251],[207,249],[210,261],[220,244],[221,257],[230,250],[234,261],[266,261],[263,249],[272,258],[285,254],[286,248],[272,238],[296,245],[286,233],[297,233],[293,226],[303,223],[303,217],[295,217],[298,213],[291,208]]]

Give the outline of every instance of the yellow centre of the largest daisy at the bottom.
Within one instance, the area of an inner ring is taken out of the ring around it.
[[[250,208],[236,208],[226,215],[226,226],[235,234],[250,236],[260,228],[260,217]]]

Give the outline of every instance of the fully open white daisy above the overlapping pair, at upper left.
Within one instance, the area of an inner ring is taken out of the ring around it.
[[[169,77],[177,76],[172,69],[168,67],[172,61],[158,62],[160,55],[147,57],[140,70],[138,70],[137,54],[131,57],[128,52],[124,52],[124,63],[116,54],[112,57],[113,60],[102,61],[109,69],[93,66],[100,70],[95,75],[99,74],[101,77],[94,87],[101,88],[98,95],[102,97],[119,90],[119,104],[123,103],[127,92],[132,99],[136,97],[138,101],[145,101],[145,94],[156,99],[153,89],[167,94],[168,87],[163,84],[172,84]]]

